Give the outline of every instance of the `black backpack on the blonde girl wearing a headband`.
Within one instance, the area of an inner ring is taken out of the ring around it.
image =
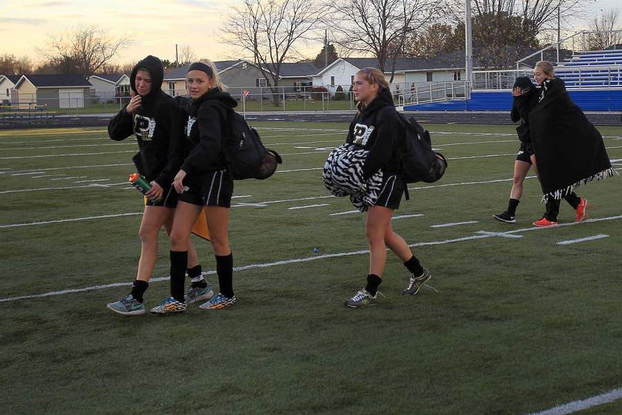
[[[264,147],[261,138],[244,117],[229,109],[229,134],[224,141],[227,166],[234,180],[267,179],[276,171],[276,165],[283,163],[274,150]]]

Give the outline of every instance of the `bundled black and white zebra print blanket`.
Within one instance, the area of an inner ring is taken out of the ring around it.
[[[368,150],[356,149],[354,145],[340,145],[328,154],[322,173],[324,186],[331,195],[350,196],[350,202],[362,212],[375,204],[382,186],[382,170],[363,179],[367,154]]]

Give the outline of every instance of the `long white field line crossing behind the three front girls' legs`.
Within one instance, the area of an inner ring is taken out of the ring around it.
[[[511,234],[511,233],[519,233],[519,232],[527,232],[527,231],[545,231],[545,230],[551,230],[551,229],[558,229],[563,226],[578,226],[578,225],[583,225],[583,224],[592,223],[592,222],[603,222],[606,220],[620,220],[620,219],[622,219],[622,215],[609,216],[607,218],[588,219],[588,220],[583,220],[582,222],[569,222],[565,224],[560,224],[556,227],[545,227],[545,228],[532,227],[532,228],[524,228],[524,229],[515,229],[513,231],[507,231],[507,232],[484,232],[484,233],[478,233],[472,236],[465,236],[463,238],[435,240],[432,242],[417,242],[414,244],[410,244],[408,246],[413,248],[413,247],[427,247],[427,246],[434,246],[434,245],[445,245],[448,243],[463,242],[466,240],[494,238],[494,237],[504,236],[504,235]],[[340,258],[343,256],[362,255],[362,254],[368,254],[368,253],[369,253],[368,249],[361,249],[359,251],[339,252],[336,254],[323,254],[323,255],[316,255],[316,256],[308,256],[305,258],[292,258],[292,259],[286,259],[283,261],[275,261],[272,263],[259,263],[259,264],[244,265],[242,267],[234,267],[233,271],[246,271],[246,270],[253,270],[256,268],[276,267],[280,265],[289,265],[289,264],[294,264],[294,263],[306,263],[310,261],[318,261],[318,260],[327,259],[327,258]],[[204,272],[204,274],[215,274],[215,273],[216,273],[215,270]],[[150,281],[151,282],[168,281],[168,277],[153,278]],[[23,300],[23,299],[53,297],[57,295],[71,294],[74,292],[103,290],[105,288],[121,287],[124,285],[131,285],[131,283],[112,283],[112,284],[107,284],[107,285],[94,285],[92,287],[72,288],[69,290],[52,291],[52,292],[46,292],[43,294],[30,294],[30,295],[22,295],[19,297],[6,297],[3,299],[0,299],[0,303],[6,303],[8,301],[17,301],[17,300]]]

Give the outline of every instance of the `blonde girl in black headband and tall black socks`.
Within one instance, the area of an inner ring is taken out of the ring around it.
[[[186,137],[192,150],[173,180],[179,202],[170,232],[170,297],[151,312],[184,312],[184,274],[188,264],[188,236],[205,206],[211,244],[216,257],[220,292],[200,308],[219,309],[236,302],[233,294],[233,255],[227,228],[233,178],[226,169],[223,134],[228,113],[236,100],[225,91],[212,62],[195,62],[188,68],[186,87],[192,98]]]

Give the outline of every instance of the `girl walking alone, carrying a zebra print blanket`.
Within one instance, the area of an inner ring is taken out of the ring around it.
[[[389,83],[381,71],[365,68],[357,72],[353,91],[359,112],[350,124],[346,143],[368,150],[363,167],[364,179],[380,169],[383,173],[380,195],[375,206],[369,206],[365,224],[369,242],[367,285],[344,302],[348,307],[357,308],[371,306],[377,301],[378,285],[382,282],[386,263],[386,247],[400,257],[411,274],[409,285],[402,294],[417,294],[431,275],[391,227],[391,217],[399,208],[405,190],[398,150],[405,126],[393,105]]]

